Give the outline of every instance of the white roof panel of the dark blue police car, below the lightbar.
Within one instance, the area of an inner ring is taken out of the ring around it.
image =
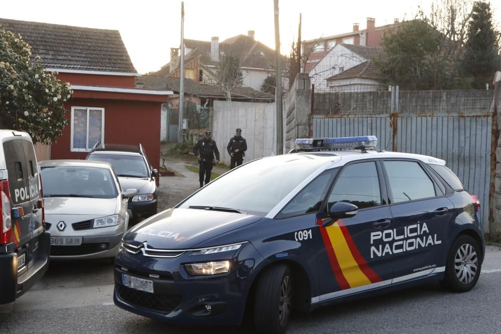
[[[368,150],[367,153],[361,153],[360,150],[337,150],[337,151],[303,151],[298,153],[291,153],[289,155],[308,156],[312,159],[322,159],[325,162],[336,162],[336,166],[344,165],[345,163],[364,160],[364,159],[381,159],[381,158],[401,158],[401,159],[414,159],[420,160],[427,164],[445,165],[445,160],[411,153],[401,152],[377,152]],[[339,158],[336,159],[336,157]]]

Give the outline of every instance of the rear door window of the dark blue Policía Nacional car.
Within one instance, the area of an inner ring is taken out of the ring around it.
[[[393,203],[436,196],[435,187],[417,162],[385,161]]]

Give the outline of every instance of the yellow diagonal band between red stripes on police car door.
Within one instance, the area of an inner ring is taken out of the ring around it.
[[[348,242],[346,241],[341,227],[338,222],[326,228],[329,239],[334,249],[334,253],[343,272],[343,276],[350,284],[350,287],[370,284],[371,281],[360,269],[357,261],[350,251]]]

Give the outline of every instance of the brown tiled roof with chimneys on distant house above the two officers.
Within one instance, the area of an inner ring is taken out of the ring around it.
[[[194,58],[200,57],[200,63],[202,65],[218,65],[218,62],[214,62],[210,57],[211,42],[185,39],[184,45],[186,48],[191,49],[191,51],[184,57],[185,64]],[[241,61],[241,67],[244,68],[257,68],[265,70],[272,70],[275,68],[275,50],[246,35],[237,35],[222,41],[219,43],[219,52],[238,57]],[[281,58],[282,68],[285,68],[287,57],[282,56]],[[171,63],[168,63],[164,65],[162,69],[169,66],[172,73],[179,67],[178,64],[176,64],[176,68],[174,69],[170,65]],[[164,72],[165,71],[160,70],[155,72],[155,75],[164,75]]]

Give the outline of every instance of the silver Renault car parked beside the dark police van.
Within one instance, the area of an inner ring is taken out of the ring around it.
[[[39,163],[51,259],[112,258],[127,231],[128,198],[107,162],[47,160]]]

